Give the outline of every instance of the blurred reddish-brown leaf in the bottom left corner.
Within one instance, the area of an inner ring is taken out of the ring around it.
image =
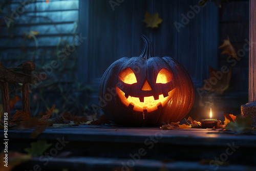
[[[4,153],[4,151],[2,151],[2,153],[0,154],[0,157],[1,157],[0,170],[3,170],[3,171],[4,170],[10,171],[15,166],[32,159],[31,155],[29,155],[29,154],[22,154],[22,153],[18,153],[18,152],[9,151],[7,153],[8,154],[8,167],[6,167],[6,166],[4,166],[4,164],[6,164],[5,159],[4,159],[5,154],[6,153]]]

